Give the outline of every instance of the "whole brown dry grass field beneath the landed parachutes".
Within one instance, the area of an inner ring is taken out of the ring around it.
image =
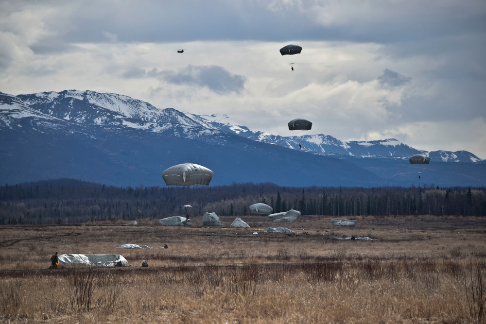
[[[486,218],[356,217],[343,228],[302,216],[284,225],[294,234],[242,219],[251,228],[202,217],[0,226],[0,322],[486,323]],[[351,235],[378,241],[333,239]],[[55,251],[121,254],[129,267],[49,270]]]

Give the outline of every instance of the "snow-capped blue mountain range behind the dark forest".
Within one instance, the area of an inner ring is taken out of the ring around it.
[[[73,178],[165,186],[161,172],[184,162],[214,171],[211,185],[486,185],[485,160],[467,151],[424,152],[393,138],[343,142],[323,134],[274,136],[226,115],[159,109],[93,91],[0,92],[0,140],[0,181],[9,185]],[[410,165],[408,157],[418,153],[429,155],[431,163]]]

